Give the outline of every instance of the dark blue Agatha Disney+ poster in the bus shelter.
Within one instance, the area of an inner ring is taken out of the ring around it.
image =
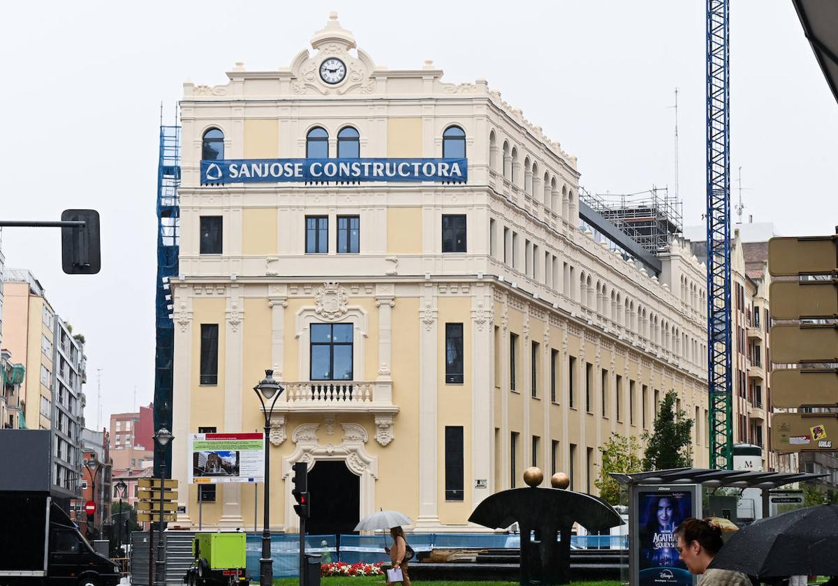
[[[678,524],[695,514],[692,499],[691,491],[639,494],[640,586],[692,586],[675,539]]]

